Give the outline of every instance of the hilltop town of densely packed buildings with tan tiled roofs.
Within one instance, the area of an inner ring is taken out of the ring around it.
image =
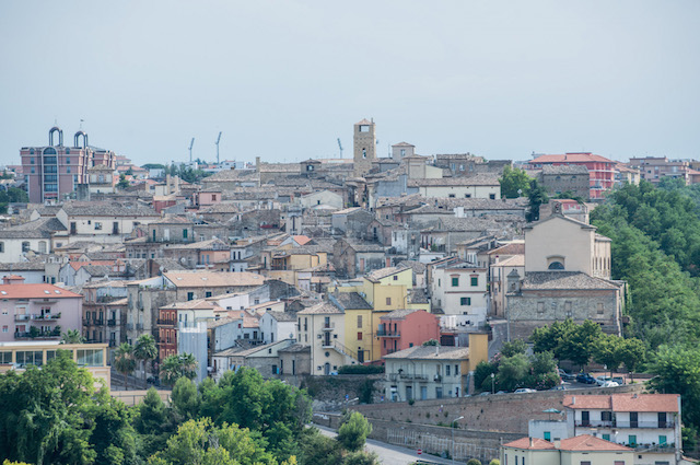
[[[697,313],[700,248],[644,228],[662,200],[700,221],[700,162],[380,156],[377,130],[352,126],[351,158],[137,166],[50,128],[0,184],[0,371],[66,349],[139,405],[254,370],[318,425],[358,411],[445,458],[691,463],[698,394],[653,354],[696,340],[667,322]],[[661,267],[685,302],[641,275]]]

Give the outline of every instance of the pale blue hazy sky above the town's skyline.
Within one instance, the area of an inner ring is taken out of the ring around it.
[[[66,141],[136,163],[380,154],[700,158],[700,2],[1,1],[0,164]]]

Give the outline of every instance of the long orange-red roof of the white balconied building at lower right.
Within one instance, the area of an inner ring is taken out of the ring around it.
[[[678,394],[611,394],[564,396],[564,407],[612,411],[678,411]]]

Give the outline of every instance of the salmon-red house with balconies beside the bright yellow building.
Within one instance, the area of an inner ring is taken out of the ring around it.
[[[395,310],[380,321],[377,336],[382,357],[430,339],[440,340],[440,319],[424,310]]]

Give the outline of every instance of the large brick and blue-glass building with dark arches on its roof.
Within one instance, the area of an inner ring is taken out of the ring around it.
[[[58,141],[54,140],[55,135]],[[88,185],[88,170],[92,166],[116,166],[116,154],[90,146],[83,131],[75,132],[72,147],[65,146],[63,131],[56,126],[48,132],[48,146],[23,147],[20,156],[30,201],[34,204],[61,200],[79,185]]]

